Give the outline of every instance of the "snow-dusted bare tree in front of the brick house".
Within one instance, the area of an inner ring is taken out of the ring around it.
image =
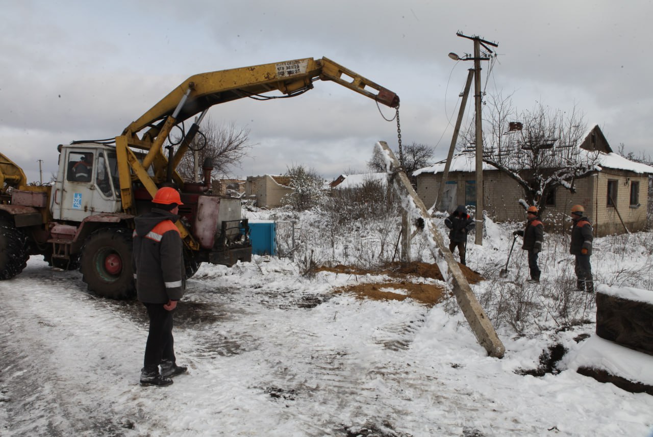
[[[558,187],[575,192],[574,182],[597,168],[595,151],[579,147],[586,123],[577,108],[554,110],[541,103],[517,112],[511,98],[488,98],[485,112],[483,161],[514,179],[524,191],[524,208],[546,209],[547,197]],[[513,120],[509,122],[509,120]],[[473,127],[462,145],[473,143]]]

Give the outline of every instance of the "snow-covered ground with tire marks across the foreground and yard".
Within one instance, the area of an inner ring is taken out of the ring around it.
[[[470,267],[503,267],[509,231],[488,223],[483,247],[470,245]],[[597,239],[593,267],[602,282],[642,288],[650,249],[629,238]],[[453,299],[429,308],[333,294],[381,278],[306,277],[277,258],[204,264],[175,316],[189,372],[163,388],[138,384],[142,306],[93,297],[78,272],[34,256],[0,282],[0,436],[651,436],[652,396],[575,372],[623,358],[616,365],[646,379],[653,357],[587,339],[596,308],[584,293],[574,294],[582,314],[573,316],[584,321],[559,329],[547,290],[569,273],[560,245],[545,245],[544,281],[528,289],[540,311],[514,326],[493,320],[502,359],[486,355]],[[513,257],[509,277],[473,286],[479,300],[494,305],[492,290],[523,282],[518,246]],[[555,372],[524,374],[556,344],[567,353]]]

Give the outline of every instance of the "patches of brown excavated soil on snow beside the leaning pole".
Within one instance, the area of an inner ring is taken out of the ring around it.
[[[465,265],[458,265],[470,284],[475,284],[484,279],[479,273],[469,269]],[[446,292],[445,288],[438,285],[411,281],[411,277],[443,280],[438,265],[424,262],[411,262],[408,264],[393,262],[378,269],[360,269],[351,265],[339,264],[334,267],[318,267],[317,271],[330,271],[345,275],[387,275],[392,278],[402,279],[397,282],[385,281],[353,284],[334,290],[336,293],[353,293],[360,297],[360,299],[403,301],[410,297],[415,301],[432,307],[442,300]]]

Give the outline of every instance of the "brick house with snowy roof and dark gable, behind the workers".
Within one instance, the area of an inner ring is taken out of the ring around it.
[[[586,151],[598,151],[597,164],[601,170],[574,182],[574,194],[558,187],[547,198],[545,217],[548,230],[564,230],[568,223],[556,220],[569,214],[571,205],[584,206],[598,236],[623,234],[626,228],[637,232],[646,227],[648,207],[648,175],[653,167],[639,164],[613,153],[601,129],[595,125],[575,146]],[[417,194],[426,207],[438,196],[445,161],[413,172],[417,177]],[[456,205],[476,204],[475,156],[473,153],[456,155],[445,181],[443,207],[453,211]],[[483,162],[483,203],[489,217],[498,222],[524,220],[522,188],[507,174]]]

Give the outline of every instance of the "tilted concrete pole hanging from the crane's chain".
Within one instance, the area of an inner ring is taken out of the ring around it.
[[[460,266],[453,259],[453,255],[445,246],[445,243],[440,235],[438,229],[434,226],[431,216],[424,206],[424,202],[417,197],[417,193],[413,189],[403,170],[400,170],[400,165],[394,157],[394,153],[390,150],[385,141],[376,143],[375,153],[379,155],[385,162],[386,171],[391,175],[394,182],[394,187],[398,191],[402,199],[402,207],[408,213],[411,222],[421,218],[424,220],[424,235],[428,241],[431,252],[433,253],[436,263],[442,273],[442,276],[450,282],[453,287],[453,293],[456,296],[456,301],[462,310],[467,322],[470,324],[471,331],[473,331],[479,344],[485,348],[488,355],[492,357],[503,357],[505,347],[496,335],[494,327],[490,323],[485,311],[477,301],[476,296],[471,291],[470,284],[460,271]]]

